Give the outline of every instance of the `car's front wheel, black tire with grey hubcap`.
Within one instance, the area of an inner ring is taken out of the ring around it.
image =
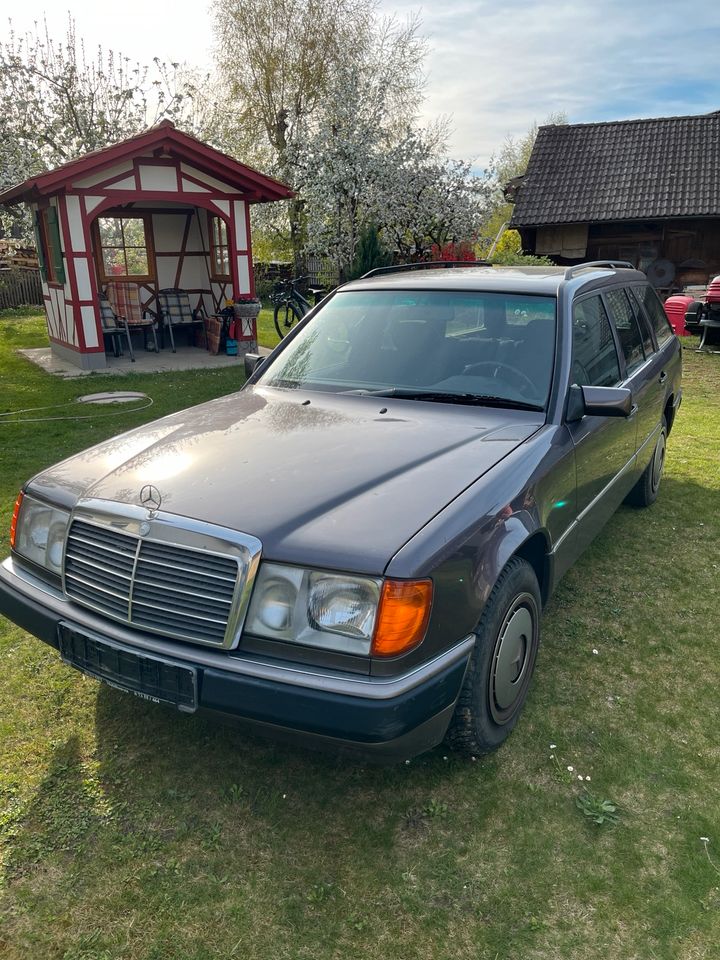
[[[465,756],[489,753],[510,735],[535,669],[541,607],[535,571],[514,557],[500,574],[475,631],[477,641],[446,738],[454,750]]]

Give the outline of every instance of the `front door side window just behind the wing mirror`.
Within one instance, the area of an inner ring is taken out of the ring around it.
[[[600,297],[586,297],[573,306],[572,381],[581,387],[620,383],[615,339]]]

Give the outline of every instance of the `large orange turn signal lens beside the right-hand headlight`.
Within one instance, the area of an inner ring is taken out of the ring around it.
[[[371,654],[396,657],[416,647],[425,636],[432,580],[386,580],[380,594]]]

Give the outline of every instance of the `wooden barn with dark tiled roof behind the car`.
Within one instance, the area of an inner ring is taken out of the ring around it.
[[[720,112],[541,127],[511,187],[526,253],[629,260],[663,293],[720,274]]]

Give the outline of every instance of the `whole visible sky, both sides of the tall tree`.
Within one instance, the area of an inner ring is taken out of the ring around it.
[[[720,3],[695,0],[380,0],[384,15],[419,12],[427,40],[421,119],[450,117],[449,153],[483,167],[507,137],[563,112],[570,123],[720,110]],[[132,59],[212,62],[203,0],[0,0],[18,32],[45,15]],[[238,69],[242,69],[238,64]]]

